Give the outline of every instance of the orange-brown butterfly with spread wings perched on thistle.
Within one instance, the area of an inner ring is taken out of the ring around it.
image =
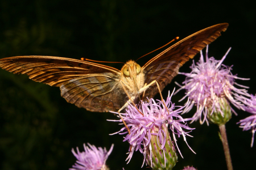
[[[228,23],[193,33],[150,59],[144,66],[128,61],[121,70],[94,62],[51,56],[0,59],[0,67],[27,74],[36,82],[60,87],[69,103],[92,112],[118,111],[127,100],[150,99],[171,82],[179,68],[226,31]]]

